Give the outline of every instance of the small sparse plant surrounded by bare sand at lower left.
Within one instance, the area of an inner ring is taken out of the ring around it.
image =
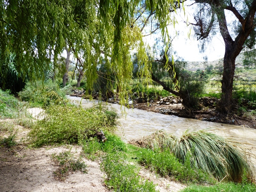
[[[52,154],[52,160],[59,166],[59,168],[53,172],[56,180],[64,181],[68,176],[68,172],[72,171],[87,173],[86,164],[80,159],[75,159],[70,150],[62,152],[59,155]]]

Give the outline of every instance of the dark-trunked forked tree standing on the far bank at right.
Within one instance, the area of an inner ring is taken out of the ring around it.
[[[220,110],[229,112],[233,108],[232,91],[235,73],[235,60],[244,47],[252,49],[255,40],[256,0],[194,0],[196,14],[194,15],[195,34],[202,40],[202,48],[217,31],[225,43],[223,60],[223,77],[221,81]],[[227,23],[226,15],[230,14],[233,26]]]

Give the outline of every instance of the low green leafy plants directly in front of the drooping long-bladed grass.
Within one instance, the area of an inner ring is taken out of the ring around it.
[[[172,179],[182,183],[212,183],[213,179],[201,169],[191,167],[190,156],[187,156],[184,164],[170,151],[152,151],[143,149],[138,159],[146,168],[155,170],[162,176],[169,175]]]

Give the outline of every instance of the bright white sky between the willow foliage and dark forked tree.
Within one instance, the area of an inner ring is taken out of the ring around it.
[[[185,7],[186,16],[184,13],[176,15],[178,24],[175,24],[175,29],[173,26],[169,26],[169,34],[174,33],[174,31],[179,31],[179,36],[175,37],[172,42],[173,50],[177,52],[179,57],[183,58],[185,61],[204,61],[204,56],[207,56],[208,61],[217,60],[224,57],[225,45],[220,33],[212,38],[212,43],[206,48],[204,53],[199,52],[198,41],[193,37],[193,29],[191,29],[190,38],[188,38],[188,32],[191,26],[187,26],[184,22],[187,18],[189,22],[194,22],[192,17],[192,10],[190,7]],[[186,19],[185,19],[186,18]],[[159,34],[151,35],[145,37],[145,41],[149,45],[154,44],[154,40]]]

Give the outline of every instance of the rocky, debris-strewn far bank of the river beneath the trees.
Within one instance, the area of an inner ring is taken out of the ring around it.
[[[84,95],[83,90],[72,90],[70,96],[89,98]],[[132,99],[133,98],[133,99]],[[99,100],[99,95],[92,95],[92,99]],[[108,103],[119,104],[119,100],[117,97],[112,97],[106,100]],[[174,115],[178,117],[197,119],[221,124],[231,124],[231,125],[244,125],[249,126],[251,128],[256,128],[256,114],[253,110],[244,110],[238,112],[233,111],[228,115],[222,115],[216,109],[216,103],[219,101],[213,97],[203,97],[199,99],[200,106],[202,110],[188,110],[182,105],[182,99],[179,97],[163,97],[163,98],[151,98],[147,100],[147,95],[144,94],[138,95],[137,93],[133,93],[129,97],[129,105],[130,108],[137,108],[146,111],[152,111],[156,113],[161,113],[165,115]],[[248,105],[248,102],[244,102],[244,105]],[[128,106],[127,106],[128,107]]]

